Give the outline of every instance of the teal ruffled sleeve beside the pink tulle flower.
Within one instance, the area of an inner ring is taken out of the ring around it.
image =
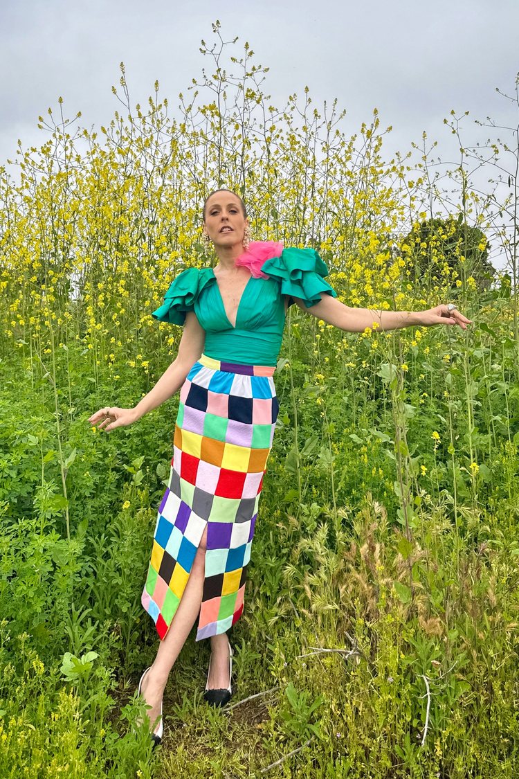
[[[333,287],[324,280],[328,268],[315,249],[283,249],[279,257],[263,263],[261,271],[279,279],[282,294],[301,298],[307,308],[318,303],[323,292],[337,297]]]

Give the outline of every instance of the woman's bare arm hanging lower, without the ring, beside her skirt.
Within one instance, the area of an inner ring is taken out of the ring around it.
[[[110,407],[96,411],[89,418],[89,423],[97,425],[98,430],[114,430],[114,428],[132,425],[133,422],[143,417],[148,411],[152,411],[153,408],[163,404],[177,390],[180,390],[186,376],[202,354],[204,343],[205,331],[198,322],[195,313],[188,312],[177,357],[170,367],[163,372],[153,390],[149,390],[149,393],[134,408]]]

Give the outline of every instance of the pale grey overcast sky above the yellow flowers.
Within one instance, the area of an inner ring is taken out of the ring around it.
[[[0,0],[0,161],[18,138],[43,143],[37,117],[60,95],[69,117],[109,122],[121,61],[134,103],[158,79],[174,108],[208,64],[198,49],[201,38],[212,40],[215,19],[226,39],[249,41],[256,62],[270,67],[274,104],[308,85],[314,103],[338,98],[348,132],[370,122],[376,106],[394,128],[388,154],[409,149],[425,129],[442,156],[454,157],[443,125],[451,108],[470,111],[468,141],[482,136],[474,118],[517,123],[495,88],[514,91],[518,0]]]

